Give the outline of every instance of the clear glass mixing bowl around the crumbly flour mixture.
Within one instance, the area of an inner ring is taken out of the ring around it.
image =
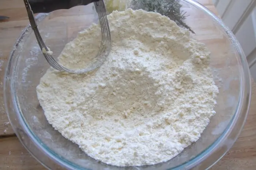
[[[251,99],[251,79],[244,53],[232,32],[213,13],[192,0],[181,0],[189,15],[193,38],[211,51],[211,68],[219,87],[216,115],[201,138],[170,161],[151,166],[115,167],[87,156],[47,122],[36,86],[49,68],[33,31],[27,26],[15,44],[5,71],[4,98],[12,128],[20,142],[49,169],[165,170],[207,169],[233,145],[245,122]],[[78,31],[98,22],[93,4],[36,17],[42,38],[57,57]]]

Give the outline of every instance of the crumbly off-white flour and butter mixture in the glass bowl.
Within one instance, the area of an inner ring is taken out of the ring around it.
[[[108,16],[112,50],[99,69],[48,69],[37,86],[45,116],[90,157],[115,166],[153,165],[200,138],[218,94],[210,52],[166,16],[143,10]],[[97,54],[94,24],[69,42],[60,62],[81,69]]]

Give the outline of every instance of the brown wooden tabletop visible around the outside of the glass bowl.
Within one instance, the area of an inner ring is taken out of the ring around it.
[[[212,12],[217,13],[211,0],[198,0]],[[26,9],[22,0],[1,0],[0,15],[10,19],[0,22],[0,87],[3,87],[4,70],[10,51],[28,24]],[[44,170],[22,146],[12,130],[5,113],[3,91],[0,91],[0,169]],[[252,81],[252,100],[249,115],[242,133],[229,152],[212,170],[255,170],[256,168],[256,84]]]

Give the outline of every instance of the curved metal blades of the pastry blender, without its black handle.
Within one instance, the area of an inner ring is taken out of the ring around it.
[[[108,56],[111,47],[110,29],[108,19],[106,16],[106,8],[103,0],[24,0],[24,3],[27,9],[27,14],[29,16],[31,28],[34,31],[37,42],[41,50],[43,51],[45,59],[50,64],[50,66],[59,71],[80,74],[90,72],[91,70],[94,70],[95,68],[102,65],[102,63],[105,61],[105,58]],[[39,33],[33,12],[51,12],[57,9],[69,9],[78,5],[87,5],[90,3],[94,3],[96,12],[98,13],[99,23],[101,26],[101,46],[99,48],[97,56],[95,56],[99,59],[95,63],[93,63],[92,66],[85,66],[85,68],[83,69],[68,69],[67,67],[58,63],[56,59],[54,59],[51,55],[51,51],[49,51]]]

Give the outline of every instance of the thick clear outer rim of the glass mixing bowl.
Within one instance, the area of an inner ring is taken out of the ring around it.
[[[242,51],[242,48],[240,44],[238,43],[237,39],[235,38],[234,34],[223,24],[222,20],[219,19],[214,13],[212,13],[210,10],[208,10],[206,7],[201,5],[200,3],[197,3],[193,0],[182,0],[193,7],[202,10],[206,14],[208,14],[215,22],[219,24],[219,26],[222,27],[222,29],[226,32],[227,36],[232,40],[232,43],[234,45],[234,48],[236,49],[237,53],[240,56],[241,59],[241,65],[240,68],[240,74],[241,74],[241,81],[240,81],[240,96],[238,101],[238,106],[236,109],[236,112],[234,113],[232,119],[230,120],[229,124],[227,125],[225,131],[223,131],[222,135],[219,136],[215,142],[213,142],[208,148],[206,148],[204,151],[199,153],[196,157],[190,159],[189,161],[178,165],[172,169],[178,170],[178,169],[191,169],[196,166],[200,166],[199,164],[203,161],[207,161],[206,165],[204,166],[204,169],[210,168],[214,163],[219,161],[226,152],[233,146],[234,142],[236,141],[238,135],[240,134],[242,127],[244,126],[246,117],[248,115],[249,111],[249,105],[251,101],[251,76],[249,72],[248,63],[246,61],[246,57],[244,55],[244,52]],[[35,16],[36,20],[41,20],[45,18],[48,14],[46,13],[39,13],[37,16]],[[10,120],[11,126],[19,138],[20,142],[25,146],[25,148],[30,152],[31,155],[37,161],[39,161],[42,165],[44,165],[46,168],[50,168],[50,165],[46,161],[42,161],[42,159],[39,159],[44,155],[45,157],[50,158],[55,163],[59,164],[62,167],[68,168],[68,169],[81,169],[81,167],[74,165],[74,163],[71,163],[65,159],[62,159],[60,156],[56,155],[54,152],[52,152],[50,149],[48,149],[47,146],[45,146],[41,140],[37,138],[37,136],[34,134],[33,131],[30,130],[28,125],[26,124],[26,120],[23,117],[23,114],[20,112],[21,109],[19,107],[19,103],[17,102],[18,99],[15,95],[14,90],[14,79],[10,78],[15,76],[16,74],[16,64],[17,62],[14,61],[15,53],[16,53],[16,47],[18,47],[19,43],[22,41],[23,37],[26,35],[28,30],[31,29],[31,26],[28,25],[23,31],[20,37],[18,38],[17,42],[15,43],[14,50],[10,54],[10,58],[7,63],[7,67],[5,69],[5,75],[4,75],[4,103],[6,106],[6,111],[8,118]],[[14,69],[12,69],[14,67]],[[242,74],[243,73],[243,74]],[[10,105],[10,107],[9,107]],[[13,119],[11,115],[16,115],[17,119]],[[239,123],[238,123],[239,121]],[[21,125],[18,127],[17,124],[19,123]],[[30,144],[33,144],[35,148],[37,148],[40,151],[38,154],[34,149],[31,149],[27,146],[26,142],[22,139],[22,134],[20,132],[20,129],[28,136],[28,140]],[[235,131],[234,131],[235,130]],[[226,140],[228,138],[231,138],[231,141],[229,141],[228,144],[226,144]],[[41,155],[40,155],[41,154]],[[214,157],[215,154],[218,154],[218,158]],[[40,157],[39,157],[40,155]],[[206,160],[207,159],[207,160]]]

